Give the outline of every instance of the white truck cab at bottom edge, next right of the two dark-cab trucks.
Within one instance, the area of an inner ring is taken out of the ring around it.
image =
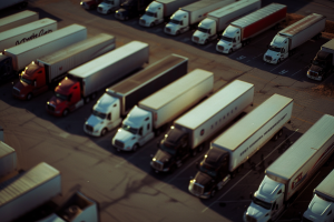
[[[254,193],[253,201],[244,214],[244,221],[266,222],[276,219],[284,210],[285,185],[265,175],[258,190]]]

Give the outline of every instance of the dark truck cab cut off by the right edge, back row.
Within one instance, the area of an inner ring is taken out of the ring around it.
[[[316,57],[311,60],[307,77],[314,80],[323,80],[333,71],[333,53],[318,51]]]

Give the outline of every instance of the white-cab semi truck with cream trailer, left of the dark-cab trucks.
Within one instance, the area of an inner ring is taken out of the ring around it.
[[[174,81],[131,109],[112,138],[112,145],[118,151],[136,151],[213,89],[214,73],[200,69]]]

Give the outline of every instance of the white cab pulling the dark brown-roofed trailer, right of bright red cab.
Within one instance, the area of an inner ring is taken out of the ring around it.
[[[94,105],[92,113],[86,121],[84,130],[95,137],[104,137],[121,123],[119,99],[105,93]]]

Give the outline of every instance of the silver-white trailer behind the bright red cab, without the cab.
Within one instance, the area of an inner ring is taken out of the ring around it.
[[[106,88],[131,71],[148,63],[149,46],[139,41],[131,41],[111,52],[98,57],[69,71],[69,78],[85,82],[82,97]]]

